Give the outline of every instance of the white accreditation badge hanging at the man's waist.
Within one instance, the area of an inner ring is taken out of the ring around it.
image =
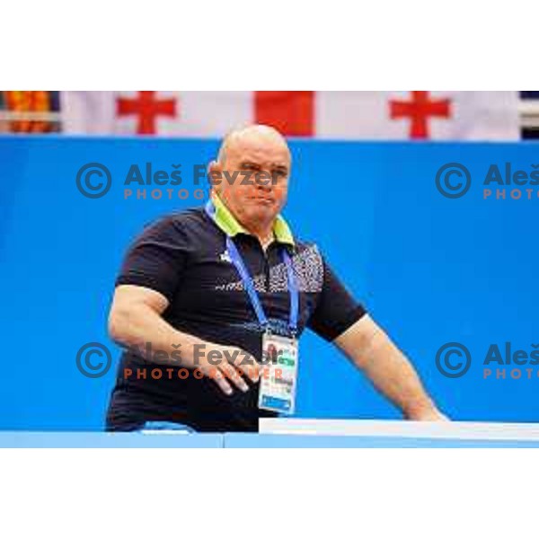
[[[294,413],[297,384],[297,340],[266,331],[262,337],[259,393],[261,410]]]

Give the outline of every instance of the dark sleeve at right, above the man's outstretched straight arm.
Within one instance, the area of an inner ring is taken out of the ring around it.
[[[323,260],[323,286],[307,327],[324,340],[335,340],[367,314]]]

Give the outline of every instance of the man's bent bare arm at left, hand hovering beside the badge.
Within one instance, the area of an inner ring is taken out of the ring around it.
[[[249,388],[242,376],[239,376],[226,360],[227,358],[238,358],[236,367],[242,369],[253,382],[258,380],[259,366],[254,358],[249,365],[247,361],[242,363],[245,360],[243,350],[200,340],[188,333],[175,330],[161,316],[168,305],[169,301],[163,294],[150,288],[134,285],[116,287],[109,314],[110,338],[128,349],[136,348],[148,361],[174,367],[199,368],[207,376],[213,374],[211,377],[216,384],[228,394],[232,393],[229,381],[242,391]],[[151,357],[146,355],[146,343],[152,344]],[[199,354],[195,355],[197,346]],[[206,354],[212,350],[219,352],[219,357],[223,358],[218,365],[208,363]],[[181,362],[172,359],[174,352],[177,354],[178,351],[181,354]],[[156,352],[159,352],[162,358],[159,358]],[[223,376],[215,376],[216,368]]]

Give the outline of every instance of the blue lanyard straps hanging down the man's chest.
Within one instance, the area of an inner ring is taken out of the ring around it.
[[[245,263],[243,262],[242,255],[238,251],[234,241],[230,236],[226,236],[226,249],[228,250],[228,254],[230,255],[230,260],[232,261],[236,270],[238,270],[240,277],[242,278],[243,286],[245,287],[245,290],[247,290],[247,294],[249,295],[249,299],[251,300],[252,308],[254,309],[257,318],[259,319],[259,323],[261,323],[261,325],[266,329],[266,331],[268,331],[270,328],[270,323],[268,322],[268,318],[264,313],[261,299],[256,291],[256,288],[254,287],[251,275],[249,275],[249,270],[247,270]],[[296,337],[297,318],[299,312],[299,291],[297,289],[296,277],[292,268],[292,261],[290,259],[290,255],[287,253],[287,250],[284,247],[281,250],[281,254],[283,257],[283,261],[287,266],[288,290],[290,291],[290,315],[288,318],[288,329],[290,330],[292,336]]]

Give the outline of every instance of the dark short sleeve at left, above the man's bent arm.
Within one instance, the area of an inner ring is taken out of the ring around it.
[[[129,247],[116,286],[151,288],[172,302],[188,252],[187,237],[179,221],[165,217],[148,225]]]

